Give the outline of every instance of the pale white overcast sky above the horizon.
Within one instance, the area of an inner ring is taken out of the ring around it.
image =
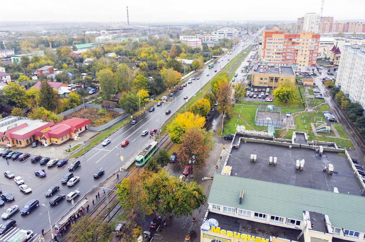
[[[322,0],[1,0],[1,20],[20,21],[219,21],[295,20],[320,13]],[[323,16],[365,19],[365,0],[325,0]]]

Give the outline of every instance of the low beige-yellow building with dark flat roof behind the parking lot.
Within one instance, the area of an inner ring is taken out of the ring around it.
[[[260,64],[252,72],[251,86],[256,88],[277,88],[280,83],[289,79],[295,82],[295,72],[289,66],[262,66]]]

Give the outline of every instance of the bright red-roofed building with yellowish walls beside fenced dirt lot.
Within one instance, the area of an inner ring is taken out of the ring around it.
[[[87,130],[89,123],[90,120],[80,118],[66,119],[44,132],[41,136],[42,143],[44,146],[49,146],[65,143],[69,139],[77,140],[78,134]]]

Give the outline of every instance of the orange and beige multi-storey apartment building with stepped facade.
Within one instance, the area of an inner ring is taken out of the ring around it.
[[[312,72],[317,62],[319,38],[319,34],[312,32],[264,31],[262,46],[259,48],[260,61],[263,64],[292,66],[294,70]]]

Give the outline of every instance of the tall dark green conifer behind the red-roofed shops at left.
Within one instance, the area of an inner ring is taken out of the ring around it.
[[[57,90],[54,90],[47,80],[41,81],[41,90],[39,90],[39,105],[48,111],[54,111],[58,103]]]

